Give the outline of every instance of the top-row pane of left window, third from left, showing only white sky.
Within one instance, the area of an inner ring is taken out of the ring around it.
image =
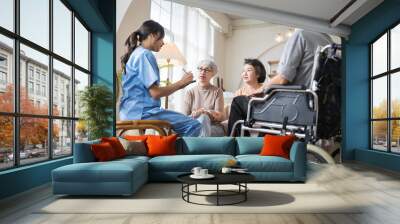
[[[53,17],[53,51],[71,60],[72,12],[60,0],[53,0]]]

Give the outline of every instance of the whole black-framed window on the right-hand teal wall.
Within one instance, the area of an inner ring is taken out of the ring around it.
[[[370,45],[371,148],[400,153],[400,25]]]

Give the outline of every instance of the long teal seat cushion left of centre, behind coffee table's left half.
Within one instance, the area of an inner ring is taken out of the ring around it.
[[[190,172],[193,167],[200,166],[211,172],[219,171],[230,159],[231,155],[175,155],[158,156],[149,160],[149,170],[163,172]]]

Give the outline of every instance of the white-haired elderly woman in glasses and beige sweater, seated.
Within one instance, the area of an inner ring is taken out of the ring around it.
[[[217,65],[213,61],[201,61],[198,65],[197,85],[185,94],[183,113],[200,121],[206,132],[201,136],[225,135],[220,124],[225,119],[223,91],[210,83],[217,72]]]

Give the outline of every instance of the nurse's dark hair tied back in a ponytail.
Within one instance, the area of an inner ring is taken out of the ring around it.
[[[128,39],[125,41],[126,52],[121,57],[121,67],[125,71],[126,63],[129,60],[129,56],[138,46],[138,42],[142,42],[146,40],[150,34],[158,35],[158,38],[164,38],[165,32],[164,27],[162,27],[159,23],[154,20],[144,21],[143,24],[134,31],[131,35],[129,35]]]

